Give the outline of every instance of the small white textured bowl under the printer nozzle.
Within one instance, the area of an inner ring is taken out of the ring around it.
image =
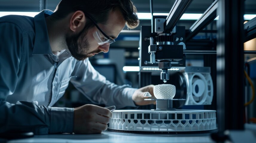
[[[171,84],[159,84],[154,86],[154,96],[157,99],[173,99],[176,88]]]

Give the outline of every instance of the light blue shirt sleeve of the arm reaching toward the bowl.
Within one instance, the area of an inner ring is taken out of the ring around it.
[[[73,76],[77,78],[71,79],[71,83],[95,104],[115,105],[117,108],[136,107],[132,95],[137,89],[129,85],[118,86],[106,80],[88,59],[77,61]]]

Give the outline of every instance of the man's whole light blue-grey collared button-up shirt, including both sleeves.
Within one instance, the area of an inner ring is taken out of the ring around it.
[[[73,108],[52,107],[69,81],[94,103],[135,106],[135,88],[109,82],[88,59],[78,61],[67,51],[53,55],[45,23],[52,13],[0,18],[0,133],[72,133]]]

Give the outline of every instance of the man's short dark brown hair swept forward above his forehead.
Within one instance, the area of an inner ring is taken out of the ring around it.
[[[108,20],[110,10],[116,9],[122,12],[128,28],[134,29],[139,25],[137,9],[131,0],[61,0],[52,16],[65,18],[69,13],[81,10],[88,13],[96,23],[104,23]],[[86,25],[94,26],[92,21]]]

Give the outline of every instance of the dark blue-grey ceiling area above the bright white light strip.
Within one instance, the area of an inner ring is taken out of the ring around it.
[[[44,0],[42,0],[44,1]],[[47,9],[54,10],[60,0],[47,0]],[[150,0],[132,0],[139,13],[150,13]],[[153,0],[155,13],[169,13],[175,0]],[[193,0],[186,13],[203,13],[213,0]],[[245,0],[245,14],[256,14],[256,1]],[[39,0],[0,0],[0,11],[39,11]]]

